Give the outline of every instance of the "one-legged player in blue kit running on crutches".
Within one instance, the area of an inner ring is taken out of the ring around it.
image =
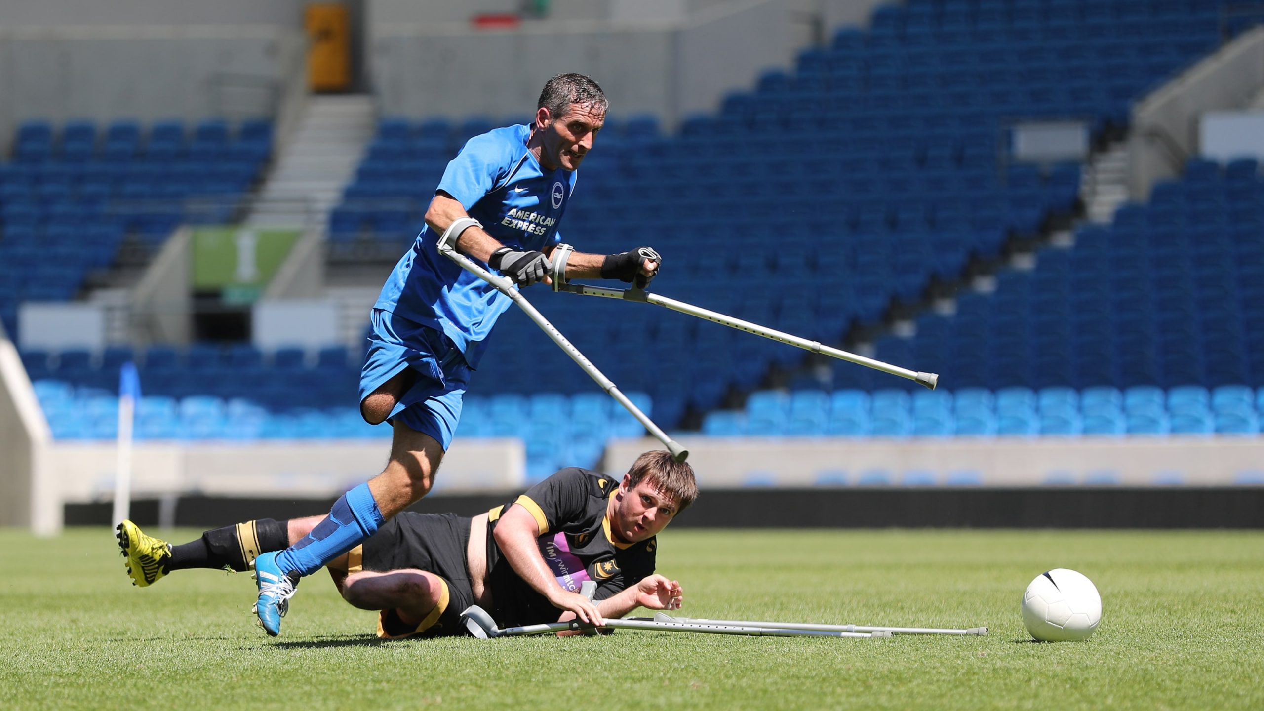
[[[360,414],[389,421],[391,458],[378,476],[343,495],[306,536],[255,559],[259,624],[276,636],[295,586],[410,504],[426,496],[461,414],[470,371],[509,299],[440,253],[455,247],[520,287],[570,278],[617,278],[646,286],[659,254],[642,247],[585,254],[561,243],[579,164],[605,121],[608,102],[592,78],[549,80],[535,123],[471,138],[444,172],[426,226],[396,264],[373,306],[370,347],[360,374]],[[523,377],[538,373],[523,371]],[[585,622],[600,620],[578,592],[554,601]]]

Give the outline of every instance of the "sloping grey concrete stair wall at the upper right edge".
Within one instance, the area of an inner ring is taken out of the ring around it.
[[[1264,27],[1243,34],[1133,108],[1129,194],[1144,201],[1155,182],[1179,175],[1179,157],[1198,154],[1198,116],[1241,109],[1264,87]]]

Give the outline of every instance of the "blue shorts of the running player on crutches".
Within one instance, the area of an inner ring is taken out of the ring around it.
[[[387,421],[398,420],[428,434],[446,452],[461,419],[461,397],[469,386],[470,368],[465,357],[441,331],[391,311],[374,309],[370,320],[373,331],[360,371],[360,402],[404,368],[412,368],[412,385]]]

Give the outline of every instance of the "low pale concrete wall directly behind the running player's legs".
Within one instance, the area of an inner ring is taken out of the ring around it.
[[[135,498],[166,495],[335,497],[382,471],[391,440],[265,443],[137,443],[131,453]],[[526,448],[517,439],[453,442],[435,478],[435,493],[521,490]],[[114,491],[114,443],[58,442],[49,474],[66,502],[102,501]]]

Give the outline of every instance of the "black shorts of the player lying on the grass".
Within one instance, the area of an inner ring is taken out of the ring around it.
[[[378,636],[398,639],[466,634],[460,616],[474,605],[465,555],[469,538],[470,519],[455,514],[403,511],[348,553],[348,573],[416,568],[439,576],[444,583],[439,605],[420,625],[404,624],[394,610],[383,610],[378,615]]]

